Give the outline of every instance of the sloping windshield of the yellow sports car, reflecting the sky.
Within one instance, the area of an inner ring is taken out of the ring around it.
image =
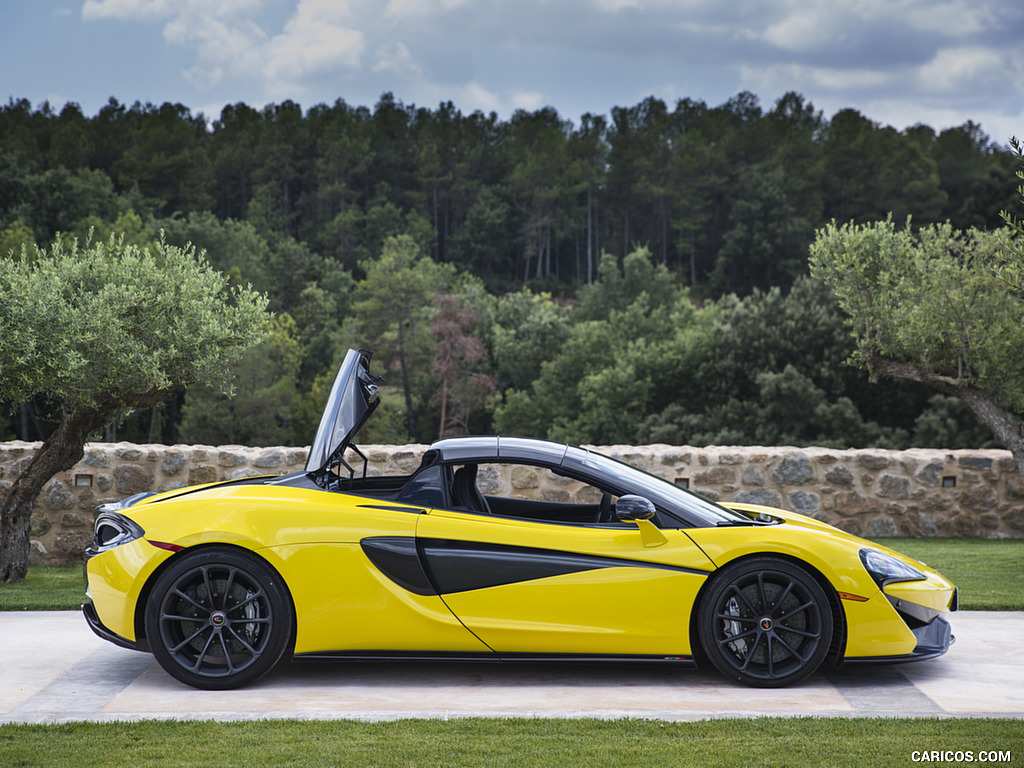
[[[577,454],[585,454],[585,456]],[[673,482],[593,451],[570,450],[562,466],[568,469],[573,463],[587,467],[590,472],[597,470],[601,475],[612,478],[612,482],[621,484],[624,490],[628,489],[629,493],[649,499],[660,509],[682,516],[686,522],[696,525],[734,524],[737,520],[750,522],[749,517],[738,512],[733,512]]]

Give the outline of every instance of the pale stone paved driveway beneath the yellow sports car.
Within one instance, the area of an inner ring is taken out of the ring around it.
[[[456,717],[998,717],[1024,719],[1024,612],[962,612],[944,656],[848,665],[781,690],[665,667],[303,663],[200,691],[74,611],[0,612],[0,723]]]

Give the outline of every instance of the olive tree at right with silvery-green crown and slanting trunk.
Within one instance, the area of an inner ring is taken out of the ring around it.
[[[997,273],[1001,250],[998,232],[949,224],[833,222],[811,246],[811,271],[836,291],[872,381],[959,398],[1024,475],[1024,298]]]

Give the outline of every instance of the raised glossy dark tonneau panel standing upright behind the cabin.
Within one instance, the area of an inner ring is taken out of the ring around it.
[[[306,458],[307,472],[319,472],[340,458],[380,403],[380,379],[370,375],[371,356],[366,349],[349,349],[345,355]]]

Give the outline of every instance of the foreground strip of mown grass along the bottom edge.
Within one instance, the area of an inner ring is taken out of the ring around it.
[[[920,760],[922,751],[973,761]],[[982,758],[982,753],[985,753]],[[1010,762],[1005,758],[1009,755]],[[998,758],[1002,758],[999,760]],[[1024,762],[1014,720],[467,719],[0,726],[0,765],[90,766],[865,766]]]

